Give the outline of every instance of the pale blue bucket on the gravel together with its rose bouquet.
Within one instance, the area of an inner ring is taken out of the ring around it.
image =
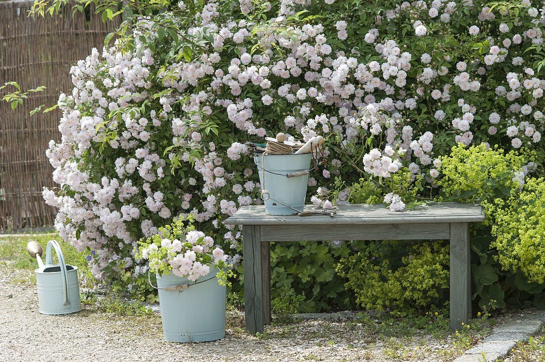
[[[159,290],[165,340],[204,342],[225,336],[227,278],[233,275],[221,248],[195,230],[192,218],[178,219],[138,242]],[[202,316],[206,315],[206,318]]]

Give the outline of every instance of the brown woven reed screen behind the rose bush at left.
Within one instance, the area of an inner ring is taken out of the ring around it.
[[[69,7],[58,16],[32,19],[31,6],[32,1],[0,0],[0,83],[47,87],[15,111],[0,102],[0,230],[53,225],[55,210],[44,203],[41,190],[57,186],[45,150],[60,138],[60,113],[30,116],[29,111],[69,93],[70,66],[93,47],[101,50],[106,34],[119,24],[104,24],[93,11],[72,16]]]

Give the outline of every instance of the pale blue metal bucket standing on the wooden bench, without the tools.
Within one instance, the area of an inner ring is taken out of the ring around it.
[[[311,159],[312,154],[253,157],[267,214],[295,215],[303,211]]]

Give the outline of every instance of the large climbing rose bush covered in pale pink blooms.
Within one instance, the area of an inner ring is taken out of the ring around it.
[[[44,191],[55,226],[93,251],[95,277],[136,291],[136,240],[178,214],[240,261],[240,232],[222,221],[259,202],[245,142],[265,134],[326,138],[311,194],[400,170],[429,194],[456,143],[535,149],[540,163],[541,7],[211,0],[134,15],[59,97],[62,139],[47,150],[59,188]]]

